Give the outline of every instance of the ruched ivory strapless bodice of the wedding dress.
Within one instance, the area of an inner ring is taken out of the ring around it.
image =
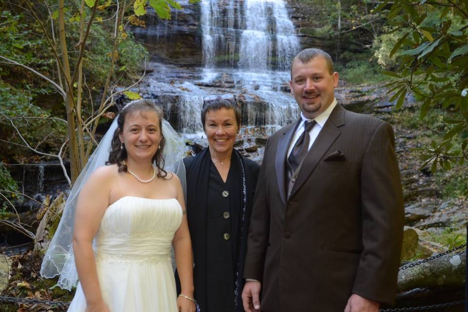
[[[159,262],[170,259],[182,221],[175,199],[125,196],[104,213],[96,235],[97,261]]]

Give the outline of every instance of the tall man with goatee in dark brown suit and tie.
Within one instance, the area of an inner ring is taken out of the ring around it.
[[[302,114],[267,141],[242,292],[247,312],[377,312],[393,304],[403,195],[390,125],[334,98],[338,73],[301,51],[291,93]]]

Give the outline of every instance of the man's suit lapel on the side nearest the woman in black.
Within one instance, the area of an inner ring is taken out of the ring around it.
[[[278,148],[276,150],[276,158],[274,160],[274,168],[276,171],[276,178],[278,180],[278,189],[284,205],[286,205],[286,186],[284,184],[286,176],[286,170],[284,167],[286,154],[288,153],[289,145],[291,144],[292,137],[294,136],[294,132],[300,121],[301,119],[292,124],[293,126],[289,130],[285,129],[283,136],[278,140]]]

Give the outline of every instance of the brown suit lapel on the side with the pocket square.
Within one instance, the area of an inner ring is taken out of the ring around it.
[[[302,168],[299,171],[294,187],[292,188],[291,197],[297,192],[297,190],[304,184],[307,178],[312,174],[312,171],[317,166],[318,162],[325,153],[330,149],[331,144],[340,136],[341,130],[339,127],[345,124],[345,112],[346,110],[339,104],[335,106],[331,112],[330,117],[323,125],[322,130],[318,134],[318,137],[312,144],[312,147],[307,153]]]

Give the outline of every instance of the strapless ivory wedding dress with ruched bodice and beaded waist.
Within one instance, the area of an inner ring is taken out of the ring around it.
[[[171,245],[182,221],[173,199],[125,196],[104,213],[96,235],[102,298],[111,312],[177,312]],[[84,312],[78,283],[69,312]]]

